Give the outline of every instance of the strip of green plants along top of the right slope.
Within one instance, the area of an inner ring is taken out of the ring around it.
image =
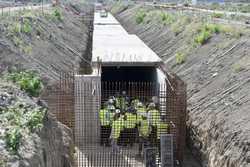
[[[221,15],[214,14],[214,17]],[[135,15],[136,24],[156,23],[157,26],[166,26],[175,36],[185,36],[187,47],[176,51],[176,65],[185,63],[186,56],[195,48],[201,47],[216,35],[224,35],[227,38],[239,38],[249,34],[246,28],[236,28],[233,25],[213,23],[203,16],[192,16],[176,11],[160,11],[147,8],[139,8]]]

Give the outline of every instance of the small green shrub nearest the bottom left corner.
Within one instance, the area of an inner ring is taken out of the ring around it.
[[[16,153],[21,143],[21,129],[19,127],[12,127],[5,132],[5,141],[7,149],[13,153]]]

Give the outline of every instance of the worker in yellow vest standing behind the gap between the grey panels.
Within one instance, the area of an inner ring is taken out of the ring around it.
[[[148,106],[148,121],[151,127],[150,141],[151,144],[156,144],[157,142],[157,125],[160,122],[160,112],[156,109],[154,103],[150,103]]]

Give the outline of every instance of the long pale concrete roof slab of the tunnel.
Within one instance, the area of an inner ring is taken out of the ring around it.
[[[128,34],[109,14],[95,13],[92,62],[102,66],[157,66],[162,60],[136,35]]]

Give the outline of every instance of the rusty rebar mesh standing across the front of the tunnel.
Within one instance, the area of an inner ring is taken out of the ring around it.
[[[139,128],[142,127],[142,121],[138,123],[138,112],[133,113],[136,115],[136,123],[134,123],[125,116],[128,110],[120,108],[121,114],[118,115],[119,118],[123,116],[125,123],[117,139],[114,139],[114,121],[107,125],[102,124],[101,109],[111,97],[121,96],[122,91],[126,92],[130,102],[139,99],[145,107],[148,107],[154,101],[153,97],[156,97],[155,108],[160,113],[161,122],[169,125],[167,131],[158,128],[158,133],[173,134],[174,159],[181,164],[185,144],[186,92],[185,85],[179,78],[172,77],[166,84],[158,84],[101,82],[100,77],[61,74],[60,82],[50,91],[48,96],[50,98],[47,101],[57,119],[73,131],[76,146],[74,166],[144,167],[149,158],[143,154],[147,149],[154,150],[153,164],[161,166],[162,148],[160,148],[157,130],[152,126],[147,137],[141,136]],[[145,119],[140,115],[141,118]],[[148,119],[148,122],[154,120],[153,117],[150,118],[152,120]]]

